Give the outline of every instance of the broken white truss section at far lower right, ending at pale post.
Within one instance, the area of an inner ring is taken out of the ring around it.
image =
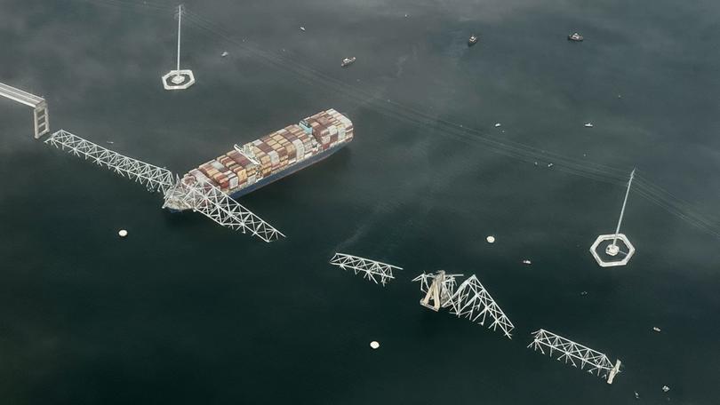
[[[613,365],[604,353],[575,343],[548,330],[536,330],[532,332],[532,335],[534,339],[530,345],[527,345],[528,347],[532,347],[535,351],[540,350],[543,354],[545,354],[543,348],[548,349],[550,357],[556,357],[558,361],[564,360],[565,364],[570,362],[572,367],[578,367],[578,364],[580,364],[580,369],[588,367],[588,373],[596,373],[599,377],[607,378],[608,384],[612,384],[612,380],[620,373],[621,361],[618,360]],[[557,352],[559,355],[553,356],[553,352]]]

